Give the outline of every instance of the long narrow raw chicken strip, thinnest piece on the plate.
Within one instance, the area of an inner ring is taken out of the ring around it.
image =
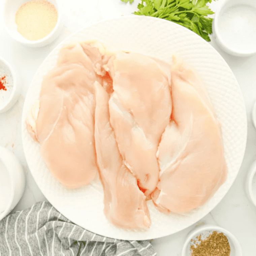
[[[104,189],[104,214],[123,228],[148,228],[151,224],[146,196],[137,180],[124,165],[109,122],[109,95],[95,82],[95,147]]]

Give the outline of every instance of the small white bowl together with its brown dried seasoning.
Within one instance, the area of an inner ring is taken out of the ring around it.
[[[235,236],[226,229],[203,225],[188,234],[182,256],[242,256],[242,249]]]

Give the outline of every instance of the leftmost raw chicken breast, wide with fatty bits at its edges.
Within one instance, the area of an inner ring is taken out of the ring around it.
[[[35,125],[31,119],[27,122],[31,135],[41,144],[45,164],[69,188],[90,183],[98,171],[93,63],[102,56],[91,48],[93,60],[80,44],[60,50],[57,66],[43,78],[39,112],[32,115]]]

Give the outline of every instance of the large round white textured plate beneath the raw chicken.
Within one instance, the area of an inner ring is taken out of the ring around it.
[[[200,209],[186,216],[164,215],[148,202],[151,228],[131,231],[111,225],[103,214],[103,191],[100,183],[92,182],[79,189],[62,186],[46,168],[39,145],[31,139],[25,119],[31,104],[38,99],[42,77],[57,61],[58,51],[64,45],[79,41],[99,40],[110,50],[128,50],[170,62],[172,54],[179,54],[193,65],[204,79],[222,124],[227,181]],[[125,16],[107,20],[71,35],[59,44],[43,61],[24,103],[22,139],[31,173],[45,197],[64,216],[77,225],[100,235],[117,239],[153,239],[178,232],[209,213],[224,197],[241,166],[247,138],[246,109],[241,90],[227,63],[218,52],[200,36],[175,23],[145,16]]]

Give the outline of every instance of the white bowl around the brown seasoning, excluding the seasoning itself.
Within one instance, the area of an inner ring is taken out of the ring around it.
[[[228,243],[230,245],[230,256],[242,256],[241,246],[237,241],[237,239],[235,238],[235,236],[231,234],[229,231],[227,231],[226,229],[221,228],[219,226],[213,226],[213,225],[203,225],[193,229],[186,238],[181,255],[191,256],[191,251],[190,251],[191,239],[197,240],[196,237],[199,236],[200,234],[202,235],[202,239],[203,239],[204,234],[212,233],[214,230],[217,231],[218,233],[222,232],[224,235],[227,236]]]

